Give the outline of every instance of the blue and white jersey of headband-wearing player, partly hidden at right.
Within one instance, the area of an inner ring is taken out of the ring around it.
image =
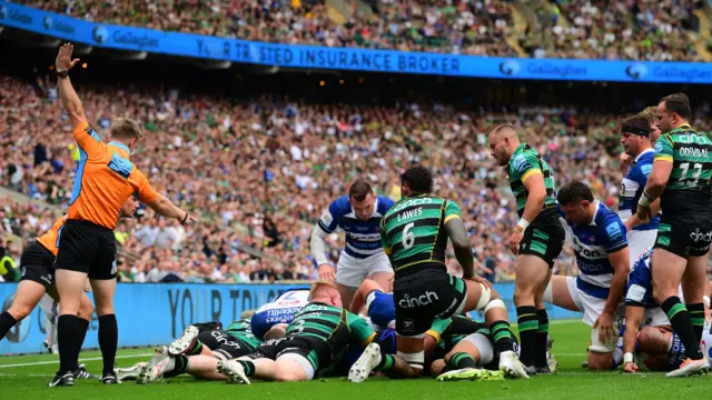
[[[647,178],[650,178],[650,172],[653,170],[654,156],[655,151],[653,149],[647,149],[640,153],[633,161],[625,178],[623,178],[619,197],[619,217],[623,222],[637,211],[637,200],[643,196]],[[660,216],[655,216],[651,218],[649,223],[639,224],[633,230],[657,229],[659,222]]]

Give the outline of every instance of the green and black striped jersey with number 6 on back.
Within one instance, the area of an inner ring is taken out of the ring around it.
[[[421,263],[445,266],[445,222],[462,219],[454,202],[436,196],[404,197],[380,220],[380,240],[396,272]]]

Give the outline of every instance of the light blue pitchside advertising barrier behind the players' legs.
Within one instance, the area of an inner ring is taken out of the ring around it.
[[[119,283],[116,292],[116,316],[119,321],[119,346],[142,347],[166,344],[182,333],[192,322],[218,320],[227,326],[246,310],[256,309],[277,294],[300,287],[297,284],[189,284],[189,283]],[[512,303],[513,283],[495,284],[516,321]],[[17,290],[17,283],[0,283],[0,306],[6,311]],[[548,309],[550,319],[580,318],[576,312]],[[473,316],[476,317],[476,316]],[[98,348],[96,314],[89,324],[85,348]],[[0,341],[0,356],[37,353],[44,350],[47,338],[44,313],[38,307]]]

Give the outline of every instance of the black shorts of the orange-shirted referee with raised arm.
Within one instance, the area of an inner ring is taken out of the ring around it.
[[[91,279],[116,279],[116,237],[111,229],[67,220],[57,241],[57,269],[83,272]]]

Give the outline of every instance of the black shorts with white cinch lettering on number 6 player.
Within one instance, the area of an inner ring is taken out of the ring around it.
[[[436,317],[445,319],[461,313],[467,300],[467,286],[441,266],[439,270],[428,268],[396,276],[393,299],[396,303],[396,332],[417,336],[425,333]]]

